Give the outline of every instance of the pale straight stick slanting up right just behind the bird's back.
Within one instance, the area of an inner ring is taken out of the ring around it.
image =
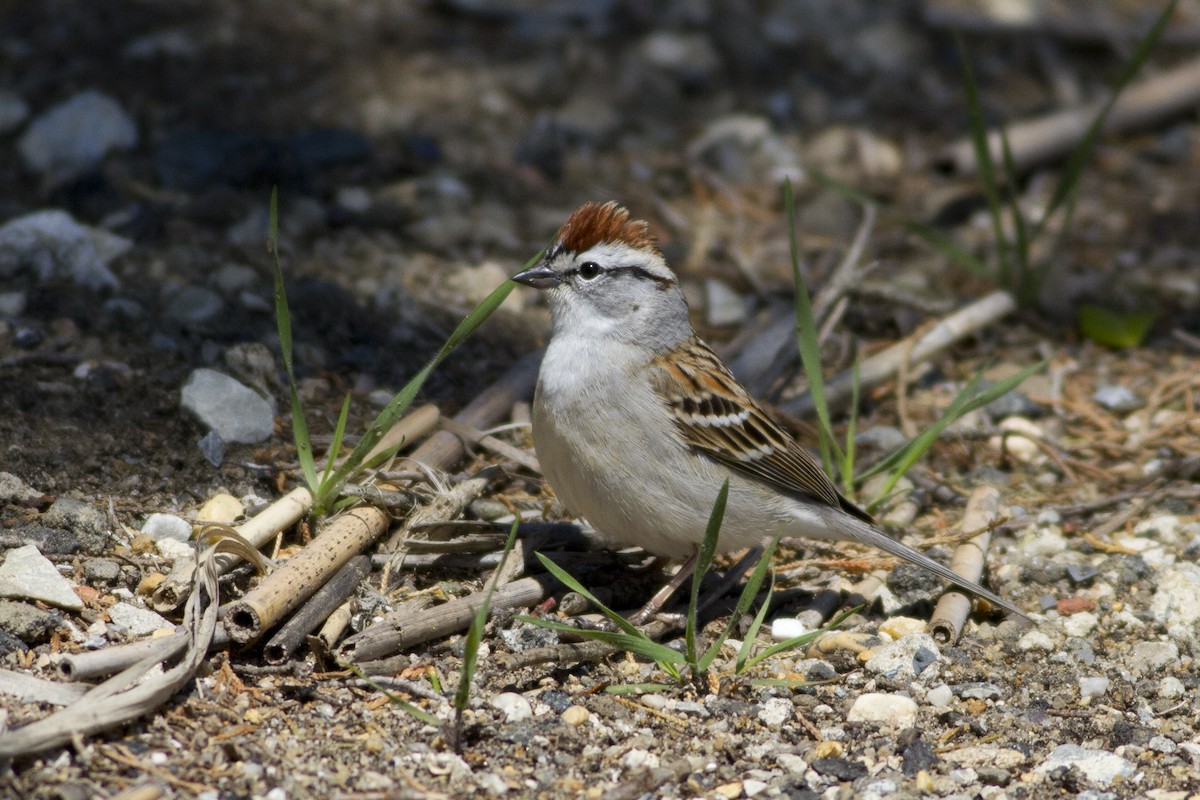
[[[960,308],[949,317],[938,321],[932,329],[918,331],[913,337],[908,337],[887,350],[877,353],[859,365],[859,384],[863,390],[877,386],[892,375],[896,374],[900,365],[905,361],[918,363],[928,361],[937,353],[960,342],[967,336],[988,327],[992,323],[1007,317],[1016,308],[1016,302],[1007,291],[992,291],[974,301],[970,306]],[[830,378],[824,386],[826,402],[829,411],[836,414],[845,409],[853,395],[854,375],[852,369],[841,372]],[[780,407],[787,414],[797,416],[810,416],[815,409],[812,395],[804,392]]]

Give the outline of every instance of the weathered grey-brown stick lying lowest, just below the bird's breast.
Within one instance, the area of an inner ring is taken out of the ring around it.
[[[521,578],[497,588],[492,594],[492,610],[527,608],[541,602],[558,587],[550,575]],[[366,663],[390,656],[430,639],[467,630],[475,612],[484,604],[486,593],[451,600],[416,613],[389,614],[383,622],[352,636],[338,648],[340,655],[366,669]],[[407,660],[406,660],[407,664]],[[367,673],[372,674],[372,673]]]

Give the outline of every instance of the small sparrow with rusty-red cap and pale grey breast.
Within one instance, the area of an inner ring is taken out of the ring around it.
[[[552,319],[532,413],[545,477],[606,540],[683,560],[673,587],[728,481],[718,552],[770,536],[870,545],[1028,619],[836,489],[697,336],[648,223],[622,205],[580,206],[512,279],[539,289]]]

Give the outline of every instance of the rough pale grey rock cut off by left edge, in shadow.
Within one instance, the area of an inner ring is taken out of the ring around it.
[[[0,225],[0,278],[32,270],[40,281],[68,278],[85,289],[118,285],[113,259],[133,242],[100,228],[79,224],[66,211],[35,211]]]

